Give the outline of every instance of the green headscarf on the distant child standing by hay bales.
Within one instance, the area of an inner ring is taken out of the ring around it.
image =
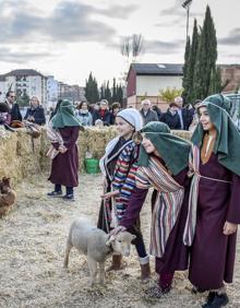
[[[81,127],[80,121],[74,116],[74,106],[69,100],[63,100],[57,114],[51,119],[53,129],[64,128],[64,127]]]

